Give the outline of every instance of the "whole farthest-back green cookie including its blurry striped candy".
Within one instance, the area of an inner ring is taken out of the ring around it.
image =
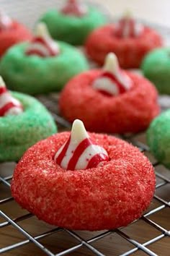
[[[79,0],[68,0],[62,9],[50,9],[40,17],[53,38],[81,45],[94,28],[104,25],[106,17],[95,7]]]

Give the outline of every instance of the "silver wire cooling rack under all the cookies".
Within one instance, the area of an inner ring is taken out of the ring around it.
[[[59,1],[57,1],[59,3]],[[58,4],[57,3],[57,4]],[[47,7],[54,7],[56,0],[1,0],[1,7],[13,17],[32,27]],[[27,8],[27,9],[25,9]],[[27,15],[25,15],[27,12]],[[107,13],[107,12],[106,12]],[[151,25],[170,42],[170,30]],[[58,113],[58,94],[38,97],[47,106],[58,124],[59,131],[71,128]],[[170,106],[169,97],[160,98],[163,109]],[[119,135],[118,135],[119,136]],[[170,171],[149,152],[146,135],[119,136],[133,143],[148,156],[156,170],[156,192],[148,210],[129,226],[109,231],[71,231],[50,226],[37,220],[14,202],[10,182],[16,163],[0,164],[0,254],[14,256],[128,256],[170,255]]]

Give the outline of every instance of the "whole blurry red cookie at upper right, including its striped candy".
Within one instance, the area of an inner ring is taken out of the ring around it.
[[[153,28],[139,24],[126,15],[115,24],[94,30],[85,46],[86,53],[98,64],[103,64],[107,54],[113,52],[120,67],[138,68],[149,51],[162,46],[162,38]]]

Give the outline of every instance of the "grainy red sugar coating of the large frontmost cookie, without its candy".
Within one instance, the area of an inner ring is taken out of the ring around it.
[[[89,134],[110,160],[97,168],[66,171],[53,158],[69,135],[48,137],[24,154],[12,180],[12,195],[19,205],[67,229],[115,229],[139,218],[156,183],[146,156],[116,137]]]

